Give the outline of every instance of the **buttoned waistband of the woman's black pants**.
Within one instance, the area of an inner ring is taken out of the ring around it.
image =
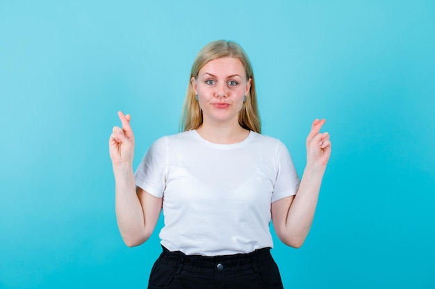
[[[162,246],[163,247],[163,246]],[[236,272],[242,270],[256,270],[259,265],[273,261],[270,247],[256,249],[251,253],[200,256],[186,255],[181,251],[169,251],[163,247],[161,261],[170,266],[181,265],[183,270],[190,272]]]

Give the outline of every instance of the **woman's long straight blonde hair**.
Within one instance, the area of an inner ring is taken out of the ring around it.
[[[186,98],[184,99],[183,110],[181,112],[181,130],[195,130],[202,125],[203,121],[202,110],[199,107],[198,101],[195,99],[195,91],[192,87],[191,78],[195,77],[196,79],[199,70],[211,60],[227,57],[240,60],[243,67],[245,67],[247,80],[249,80],[249,78],[252,79],[251,89],[249,89],[246,95],[246,101],[243,103],[242,110],[240,110],[238,123],[242,128],[261,133],[260,114],[258,113],[254,73],[252,71],[251,62],[249,62],[247,54],[239,44],[226,40],[218,40],[204,46],[204,48],[199,51],[192,64],[188,90],[186,91]]]

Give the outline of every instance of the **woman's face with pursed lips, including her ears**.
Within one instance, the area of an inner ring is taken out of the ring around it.
[[[252,82],[246,78],[245,67],[238,58],[211,60],[191,81],[204,123],[238,123],[243,98]]]

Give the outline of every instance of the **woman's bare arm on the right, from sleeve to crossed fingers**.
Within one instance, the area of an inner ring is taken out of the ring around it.
[[[296,195],[272,203],[272,222],[278,238],[291,247],[301,247],[313,223],[320,185],[331,155],[327,132],[320,133],[325,119],[316,119],[306,138],[306,167]]]

